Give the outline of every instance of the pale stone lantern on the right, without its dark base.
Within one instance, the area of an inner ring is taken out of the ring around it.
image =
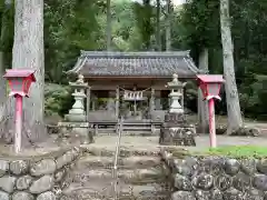
[[[172,81],[167,83],[167,88],[169,88],[170,91],[170,113],[184,113],[184,87],[186,86],[186,82],[182,83],[178,80],[178,74],[172,76]]]

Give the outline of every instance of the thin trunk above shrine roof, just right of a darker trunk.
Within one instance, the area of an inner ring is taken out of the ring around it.
[[[171,50],[171,0],[167,0],[166,4],[166,51]]]

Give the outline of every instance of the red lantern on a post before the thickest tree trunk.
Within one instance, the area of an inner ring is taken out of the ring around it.
[[[21,151],[21,131],[22,131],[22,99],[29,97],[31,82],[36,82],[34,70],[31,69],[9,69],[6,70],[4,78],[8,79],[11,91],[9,96],[16,98],[16,131],[14,131],[14,151]]]

